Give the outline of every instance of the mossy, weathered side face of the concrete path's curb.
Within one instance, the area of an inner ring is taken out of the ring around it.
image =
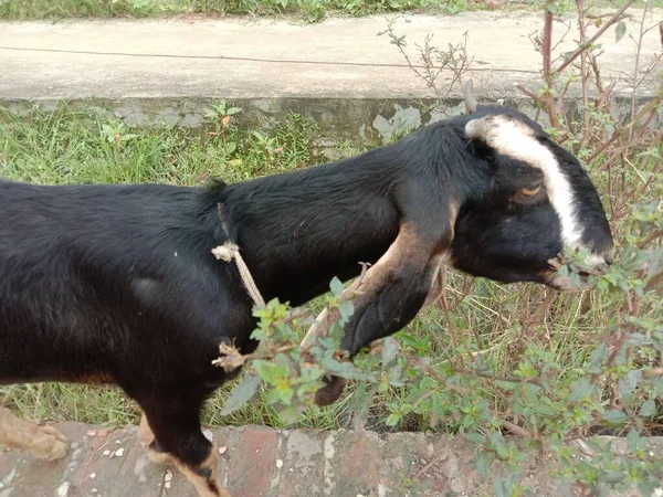
[[[29,117],[38,106],[51,113],[69,108],[74,112],[93,113],[106,119],[120,119],[130,126],[203,128],[209,126],[204,115],[219,99],[211,97],[180,98],[86,98],[73,101],[11,99],[0,98],[0,110]],[[448,98],[442,106],[433,107],[434,98],[232,98],[228,106],[243,110],[232,116],[232,123],[243,129],[269,130],[283,123],[291,113],[312,119],[318,127],[317,145],[330,154],[339,142],[351,146],[377,146],[393,134],[412,130],[420,126],[465,112],[462,98]],[[636,107],[646,105],[650,97],[636,101]],[[530,117],[537,109],[529,98],[480,99],[480,103],[506,105]],[[570,119],[578,116],[578,101],[567,99],[566,112]],[[615,98],[614,115],[627,118],[631,112],[631,98]],[[543,121],[544,115],[539,115]],[[652,119],[651,127],[663,123],[663,110]]]

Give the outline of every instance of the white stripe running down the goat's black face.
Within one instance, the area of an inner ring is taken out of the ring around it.
[[[534,131],[517,120],[503,116],[472,119],[465,125],[467,138],[481,138],[497,154],[522,160],[544,172],[550,204],[561,223],[561,241],[572,248],[580,246],[582,229],[576,218],[573,191],[557,159],[534,138]]]

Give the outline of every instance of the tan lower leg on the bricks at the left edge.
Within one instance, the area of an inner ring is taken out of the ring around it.
[[[66,436],[53,426],[40,426],[0,406],[0,444],[28,451],[36,458],[55,461],[69,452]]]

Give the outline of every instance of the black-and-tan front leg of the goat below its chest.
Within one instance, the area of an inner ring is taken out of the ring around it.
[[[218,459],[200,425],[201,402],[186,401],[186,394],[141,403],[138,436],[148,445],[149,458],[173,463],[196,488],[199,497],[231,497],[217,475]]]

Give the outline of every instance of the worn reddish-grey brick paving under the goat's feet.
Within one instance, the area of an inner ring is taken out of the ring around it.
[[[0,451],[1,497],[196,497],[176,468],[148,461],[136,426],[57,427],[72,443],[65,459],[45,463],[25,453]],[[219,478],[232,497],[493,495],[493,479],[484,482],[470,469],[473,447],[461,438],[260,426],[222,427],[207,435],[220,453]],[[663,450],[663,437],[652,442],[654,450]],[[613,446],[623,450],[625,442],[613,438]],[[523,483],[537,497],[558,496],[547,476],[550,459],[536,452],[530,455],[522,466]]]

